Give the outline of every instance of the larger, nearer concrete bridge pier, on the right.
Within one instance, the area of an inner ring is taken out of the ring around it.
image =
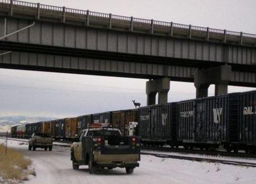
[[[231,66],[222,65],[197,69],[194,75],[196,98],[208,97],[208,87],[210,84],[215,84],[215,95],[228,93],[228,83],[231,80]]]

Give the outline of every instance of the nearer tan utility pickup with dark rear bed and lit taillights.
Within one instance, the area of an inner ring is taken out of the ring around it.
[[[121,167],[131,174],[139,167],[140,137],[123,136],[119,129],[91,128],[82,130],[78,138],[71,145],[74,170],[88,165],[89,173],[94,174],[99,169]]]

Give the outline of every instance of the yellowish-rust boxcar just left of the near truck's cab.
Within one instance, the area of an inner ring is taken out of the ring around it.
[[[65,118],[65,138],[73,140],[77,137],[76,128],[78,126],[78,118]]]

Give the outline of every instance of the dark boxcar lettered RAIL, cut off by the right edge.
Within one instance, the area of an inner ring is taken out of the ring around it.
[[[256,91],[239,94],[238,136],[240,147],[256,152]]]

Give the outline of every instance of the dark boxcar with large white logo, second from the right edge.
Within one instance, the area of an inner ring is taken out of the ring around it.
[[[185,148],[238,150],[238,94],[199,98],[178,103],[178,140]]]

